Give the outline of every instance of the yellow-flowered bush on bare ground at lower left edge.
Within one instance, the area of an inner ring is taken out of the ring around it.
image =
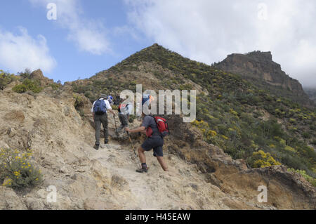
[[[35,187],[42,180],[41,171],[29,161],[32,151],[0,149],[0,183],[16,190]]]

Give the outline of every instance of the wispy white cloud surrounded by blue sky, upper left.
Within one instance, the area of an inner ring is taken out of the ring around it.
[[[77,0],[29,0],[34,5],[44,6],[48,3],[57,5],[57,20],[60,27],[68,30],[67,39],[73,41],[79,51],[94,55],[110,52],[110,41],[102,22],[87,20]]]

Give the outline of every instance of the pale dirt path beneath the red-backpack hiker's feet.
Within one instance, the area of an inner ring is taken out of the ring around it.
[[[90,159],[97,159],[112,176],[119,176],[129,186],[133,202],[124,202],[139,209],[228,209],[222,199],[227,197],[218,187],[206,183],[194,165],[187,164],[173,155],[165,157],[169,172],[162,170],[152,152],[146,152],[148,173],[137,173],[138,158],[128,147],[118,144],[101,145],[91,152]]]

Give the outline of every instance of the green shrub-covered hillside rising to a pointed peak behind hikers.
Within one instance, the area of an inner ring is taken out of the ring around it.
[[[233,159],[244,159],[252,168],[270,164],[258,158],[263,150],[277,160],[272,164],[280,162],[316,178],[315,109],[158,44],[67,86],[94,100],[101,92],[119,95],[124,89],[136,91],[136,84],[156,92],[197,89],[197,121],[193,125],[207,143],[222,148]]]

